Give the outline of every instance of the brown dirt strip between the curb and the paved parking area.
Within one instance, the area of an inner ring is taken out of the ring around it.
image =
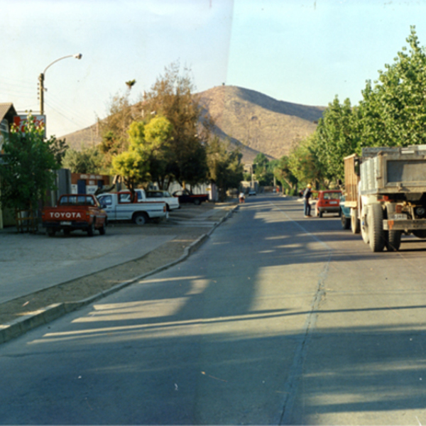
[[[229,208],[231,207],[232,205],[229,206]],[[211,219],[219,220],[228,211],[228,208],[220,209],[214,212]],[[208,231],[209,229],[205,226],[148,225],[144,233],[152,233],[159,236],[173,234],[175,238],[134,261],[122,263],[119,266],[114,266],[92,275],[4,302],[0,305],[0,324],[6,324],[53,303],[84,300],[126,280],[154,271],[161,266],[178,260],[184,254],[187,246],[190,246]]]

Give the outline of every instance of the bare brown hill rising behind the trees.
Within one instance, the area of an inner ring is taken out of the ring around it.
[[[278,101],[236,86],[214,87],[198,95],[203,114],[214,119],[217,135],[240,147],[244,163],[251,163],[259,152],[269,158],[288,154],[294,143],[315,131],[325,109]],[[77,150],[101,142],[97,124],[61,138]]]

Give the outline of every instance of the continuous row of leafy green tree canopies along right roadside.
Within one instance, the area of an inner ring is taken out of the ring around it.
[[[344,157],[363,147],[426,143],[426,51],[414,26],[406,41],[409,47],[378,71],[378,80],[366,81],[358,105],[336,96],[315,133],[293,148],[290,172],[298,180],[328,186],[344,180]]]

